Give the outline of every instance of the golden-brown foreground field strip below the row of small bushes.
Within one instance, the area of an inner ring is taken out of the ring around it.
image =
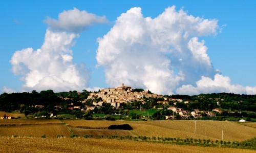
[[[84,138],[0,137],[0,145],[1,152],[255,152],[246,149]]]

